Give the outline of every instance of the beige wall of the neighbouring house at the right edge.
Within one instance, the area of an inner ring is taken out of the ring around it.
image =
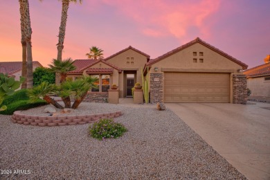
[[[251,96],[265,96],[270,98],[270,81],[264,77],[248,78],[247,87],[251,89]]]

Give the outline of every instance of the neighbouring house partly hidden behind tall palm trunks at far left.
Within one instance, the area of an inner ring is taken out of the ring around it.
[[[33,71],[37,67],[43,67],[38,61],[33,61]],[[0,62],[0,73],[8,74],[15,78],[15,80],[19,80],[21,77],[22,71],[22,62]]]

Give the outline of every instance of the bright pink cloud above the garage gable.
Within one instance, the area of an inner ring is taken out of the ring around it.
[[[207,37],[209,29],[204,21],[217,12],[220,1],[109,1],[103,0],[109,6],[114,6],[127,17],[137,22],[144,35],[162,37],[172,35],[178,39],[186,39],[188,28],[196,27],[200,35]],[[190,37],[188,37],[190,40]]]

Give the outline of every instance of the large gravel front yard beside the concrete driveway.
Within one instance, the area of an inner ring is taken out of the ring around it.
[[[128,132],[98,141],[89,125],[35,127],[0,115],[0,170],[12,171],[0,179],[246,179],[169,109],[88,104],[123,111],[115,120]]]

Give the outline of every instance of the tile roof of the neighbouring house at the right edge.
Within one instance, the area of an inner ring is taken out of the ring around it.
[[[247,78],[255,78],[261,76],[270,75],[270,63],[262,64],[260,66],[255,66],[251,69],[244,71]]]

